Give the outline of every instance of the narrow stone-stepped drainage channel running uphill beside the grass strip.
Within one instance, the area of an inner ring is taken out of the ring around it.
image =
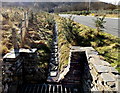
[[[53,31],[53,42],[51,46],[51,59],[49,64],[49,75],[47,82],[55,83],[59,77],[59,58],[58,58],[58,31],[57,24],[55,23],[54,31]]]

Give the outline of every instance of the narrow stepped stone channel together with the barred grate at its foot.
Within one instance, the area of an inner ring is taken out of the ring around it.
[[[70,93],[70,89],[57,83],[59,71],[58,59],[58,38],[57,25],[53,31],[53,42],[51,45],[51,59],[49,64],[49,74],[45,84],[24,84],[18,87],[17,93]],[[71,90],[72,91],[72,90]]]

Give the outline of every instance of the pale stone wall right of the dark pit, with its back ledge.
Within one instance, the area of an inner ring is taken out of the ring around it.
[[[89,74],[87,85],[91,88],[91,91],[118,91],[118,77],[119,73],[108,62],[100,59],[97,51],[92,47],[72,47],[74,51],[85,51],[89,71],[92,76],[92,80]]]

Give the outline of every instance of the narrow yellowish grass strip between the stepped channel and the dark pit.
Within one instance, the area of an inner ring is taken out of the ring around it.
[[[67,65],[69,59],[69,51],[71,44],[66,40],[64,34],[64,28],[62,28],[63,24],[62,20],[58,16],[56,16],[56,22],[58,23],[58,47],[59,47],[59,69],[61,70],[64,65]],[[62,37],[62,38],[61,38]]]

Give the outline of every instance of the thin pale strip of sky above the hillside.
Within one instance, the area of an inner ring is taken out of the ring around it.
[[[98,0],[0,0],[2,2],[96,2]],[[99,0],[103,2],[118,4],[120,0]]]

